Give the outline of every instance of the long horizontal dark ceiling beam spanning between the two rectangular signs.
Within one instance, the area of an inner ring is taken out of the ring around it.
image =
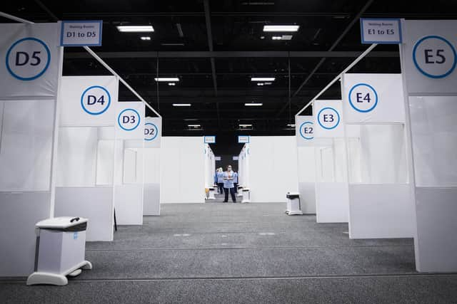
[[[101,58],[237,58],[282,57],[287,58],[357,58],[363,51],[133,51],[98,52]],[[373,51],[367,57],[398,57],[398,51]],[[86,52],[66,51],[64,58],[91,58]]]

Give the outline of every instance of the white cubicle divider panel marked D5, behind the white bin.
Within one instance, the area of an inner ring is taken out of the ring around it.
[[[35,224],[53,214],[60,23],[0,25],[0,276],[34,271]]]

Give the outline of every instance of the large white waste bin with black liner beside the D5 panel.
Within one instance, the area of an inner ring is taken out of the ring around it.
[[[66,276],[92,269],[85,260],[87,219],[62,216],[36,223],[35,270],[27,285],[66,285]]]

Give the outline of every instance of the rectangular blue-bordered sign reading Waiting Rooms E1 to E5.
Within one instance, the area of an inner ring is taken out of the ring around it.
[[[362,43],[401,43],[400,19],[360,19]]]

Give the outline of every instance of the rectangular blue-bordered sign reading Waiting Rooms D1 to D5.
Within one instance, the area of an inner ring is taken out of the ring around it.
[[[103,21],[62,21],[61,46],[101,46]]]

